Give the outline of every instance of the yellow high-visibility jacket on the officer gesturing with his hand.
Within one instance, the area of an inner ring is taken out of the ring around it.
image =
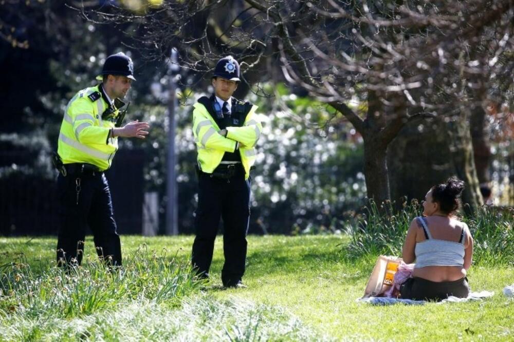
[[[102,171],[111,166],[118,138],[107,138],[115,120],[102,120],[109,104],[99,86],[80,90],[66,106],[57,150],[64,164],[89,163]],[[113,112],[116,116],[118,110]]]

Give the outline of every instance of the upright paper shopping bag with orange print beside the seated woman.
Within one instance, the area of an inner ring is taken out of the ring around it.
[[[362,298],[383,296],[384,292],[388,291],[393,285],[394,274],[398,271],[398,265],[401,261],[402,259],[398,257],[379,256]]]

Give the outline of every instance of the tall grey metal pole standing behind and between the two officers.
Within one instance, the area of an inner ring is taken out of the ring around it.
[[[166,204],[166,235],[178,235],[177,223],[177,177],[175,174],[176,155],[175,155],[175,110],[177,108],[177,72],[179,66],[177,63],[177,50],[171,50],[169,63],[169,86],[170,96],[168,97],[168,177],[167,177],[167,194],[168,202]]]

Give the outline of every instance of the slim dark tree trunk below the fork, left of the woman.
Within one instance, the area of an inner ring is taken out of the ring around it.
[[[387,146],[377,139],[364,138],[364,177],[368,197],[376,203],[390,199]]]

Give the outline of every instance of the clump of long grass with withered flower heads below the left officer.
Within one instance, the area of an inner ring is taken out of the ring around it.
[[[200,287],[189,263],[166,254],[143,248],[125,261],[123,268],[114,270],[96,257],[86,258],[80,268],[70,270],[48,262],[40,272],[34,272],[23,256],[4,261],[0,269],[0,315],[75,317],[124,301],[179,299]]]

